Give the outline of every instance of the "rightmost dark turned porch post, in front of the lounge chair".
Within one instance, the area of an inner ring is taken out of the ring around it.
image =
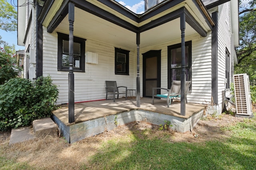
[[[181,30],[181,89],[180,89],[180,115],[186,115],[185,88],[186,88],[186,72],[185,72],[185,23],[186,16],[180,14],[180,30]]]

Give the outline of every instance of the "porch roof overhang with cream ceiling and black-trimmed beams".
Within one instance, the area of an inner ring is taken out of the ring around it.
[[[143,37],[155,43],[158,40],[161,43],[160,39],[162,42],[168,41],[167,36],[169,39],[180,38],[181,14],[186,15],[186,35],[197,33],[205,37],[214,25],[200,0],[165,0],[144,14],[135,14],[114,0],[48,0],[42,8],[39,21],[49,33],[68,33],[69,2],[75,4],[74,35],[110,43],[116,37],[116,41],[124,38],[134,45],[136,33],[141,33],[142,44]]]

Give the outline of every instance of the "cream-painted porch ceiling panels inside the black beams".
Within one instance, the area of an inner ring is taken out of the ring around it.
[[[68,15],[56,27],[56,31],[69,33]],[[186,23],[185,35],[193,34],[197,32]],[[140,33],[140,48],[180,39],[180,35],[180,18],[177,18]],[[79,8],[75,8],[74,36],[97,39],[124,49],[136,48],[136,33]]]

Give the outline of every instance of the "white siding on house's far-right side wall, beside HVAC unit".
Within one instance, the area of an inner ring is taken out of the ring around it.
[[[225,100],[226,48],[229,53],[231,52],[230,22],[230,2],[226,2],[218,6],[218,104],[222,106],[222,109]]]

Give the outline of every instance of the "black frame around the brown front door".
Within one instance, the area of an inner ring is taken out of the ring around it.
[[[157,57],[157,87],[161,87],[161,50],[150,50],[142,54],[143,56],[143,97],[152,97],[146,96],[146,59],[151,57]]]

